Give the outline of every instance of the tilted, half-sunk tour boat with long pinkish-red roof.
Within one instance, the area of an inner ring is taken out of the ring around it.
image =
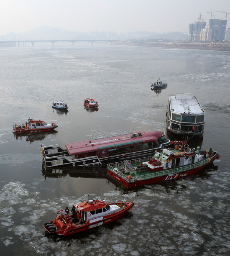
[[[47,167],[101,165],[135,157],[150,156],[153,150],[171,144],[162,131],[140,131],[108,138],[42,146]]]

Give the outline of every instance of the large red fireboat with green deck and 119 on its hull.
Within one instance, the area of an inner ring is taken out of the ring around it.
[[[220,155],[217,151],[188,148],[185,142],[174,142],[175,148],[157,150],[151,157],[107,164],[107,177],[125,187],[178,179],[199,172]]]

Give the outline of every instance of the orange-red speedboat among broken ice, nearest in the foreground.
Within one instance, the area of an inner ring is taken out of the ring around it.
[[[72,214],[69,214],[69,210],[59,210],[56,218],[51,222],[45,222],[43,227],[49,233],[68,236],[110,223],[120,218],[133,205],[133,202],[107,203],[99,199],[88,199],[86,202],[73,205]]]

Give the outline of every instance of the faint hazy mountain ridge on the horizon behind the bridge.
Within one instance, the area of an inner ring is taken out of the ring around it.
[[[64,28],[43,26],[35,28],[33,30],[21,32],[21,33],[7,33],[6,36],[0,36],[0,41],[15,41],[15,40],[171,40],[171,41],[186,41],[187,35],[180,32],[167,32],[156,33],[147,31],[133,31],[127,33],[115,33],[114,31],[92,31],[92,32],[74,32]]]

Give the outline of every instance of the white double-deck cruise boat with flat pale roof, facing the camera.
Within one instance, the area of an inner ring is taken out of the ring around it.
[[[167,129],[176,134],[201,135],[204,132],[205,111],[190,93],[169,95]]]

